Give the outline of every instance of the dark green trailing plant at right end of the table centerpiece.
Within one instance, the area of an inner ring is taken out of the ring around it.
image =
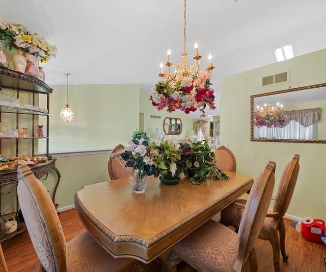
[[[183,174],[190,177],[189,182],[200,184],[207,175],[212,175],[213,179],[228,180],[228,177],[221,170],[215,161],[215,153],[211,151],[206,141],[180,143],[182,150],[181,160]]]

